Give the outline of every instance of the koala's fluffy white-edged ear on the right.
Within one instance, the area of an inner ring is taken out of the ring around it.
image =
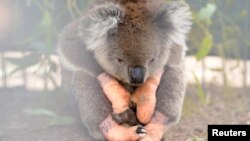
[[[161,35],[174,44],[185,45],[186,35],[192,26],[189,6],[183,1],[174,1],[159,7],[153,22]]]

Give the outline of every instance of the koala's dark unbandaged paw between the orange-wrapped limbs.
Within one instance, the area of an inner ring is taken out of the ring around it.
[[[112,113],[111,115],[117,124],[128,124],[130,126],[139,124],[135,112],[131,109],[128,109],[120,114]]]

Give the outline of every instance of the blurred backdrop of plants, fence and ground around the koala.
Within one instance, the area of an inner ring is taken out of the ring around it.
[[[87,140],[60,89],[56,49],[89,1],[0,0],[0,140]],[[186,2],[188,88],[168,139],[203,141],[207,124],[250,124],[250,1]]]

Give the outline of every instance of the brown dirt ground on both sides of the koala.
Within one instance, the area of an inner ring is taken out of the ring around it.
[[[208,124],[250,124],[249,90],[211,85],[207,88],[206,103],[198,98],[195,87],[189,86],[181,121],[168,130],[168,141],[205,141]],[[86,138],[79,117],[67,101],[60,91],[0,89],[0,141],[91,140]],[[34,110],[37,108],[53,112]],[[69,116],[74,122],[49,124],[55,113],[58,117]]]

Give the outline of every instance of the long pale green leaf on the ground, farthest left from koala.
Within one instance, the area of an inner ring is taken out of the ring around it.
[[[57,114],[47,109],[36,108],[36,109],[24,109],[23,112],[27,115],[31,116],[48,116],[48,117],[56,117]]]

